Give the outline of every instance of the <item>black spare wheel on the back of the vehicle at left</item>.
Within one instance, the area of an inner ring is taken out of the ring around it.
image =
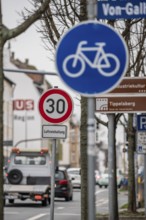
[[[22,172],[18,169],[11,170],[8,173],[8,180],[11,184],[19,184],[23,178]]]

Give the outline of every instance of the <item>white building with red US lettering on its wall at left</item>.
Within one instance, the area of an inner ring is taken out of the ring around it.
[[[38,101],[51,85],[42,75],[17,72],[20,68],[35,67],[30,66],[28,61],[23,63],[15,59],[14,53],[11,54],[6,48],[4,68],[16,69],[16,72],[4,71],[4,152],[8,155],[12,146],[48,147],[50,140],[42,140],[43,119],[39,113]]]

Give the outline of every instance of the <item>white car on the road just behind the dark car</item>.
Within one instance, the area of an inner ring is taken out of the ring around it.
[[[68,168],[67,172],[72,181],[73,188],[81,188],[81,168]]]

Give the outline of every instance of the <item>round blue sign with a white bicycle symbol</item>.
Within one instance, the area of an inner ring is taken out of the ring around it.
[[[94,21],[82,22],[60,40],[56,66],[61,79],[84,96],[114,89],[128,66],[126,43],[114,28]]]

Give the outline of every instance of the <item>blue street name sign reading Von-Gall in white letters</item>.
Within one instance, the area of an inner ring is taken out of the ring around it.
[[[146,18],[145,0],[101,0],[97,2],[98,19]]]

